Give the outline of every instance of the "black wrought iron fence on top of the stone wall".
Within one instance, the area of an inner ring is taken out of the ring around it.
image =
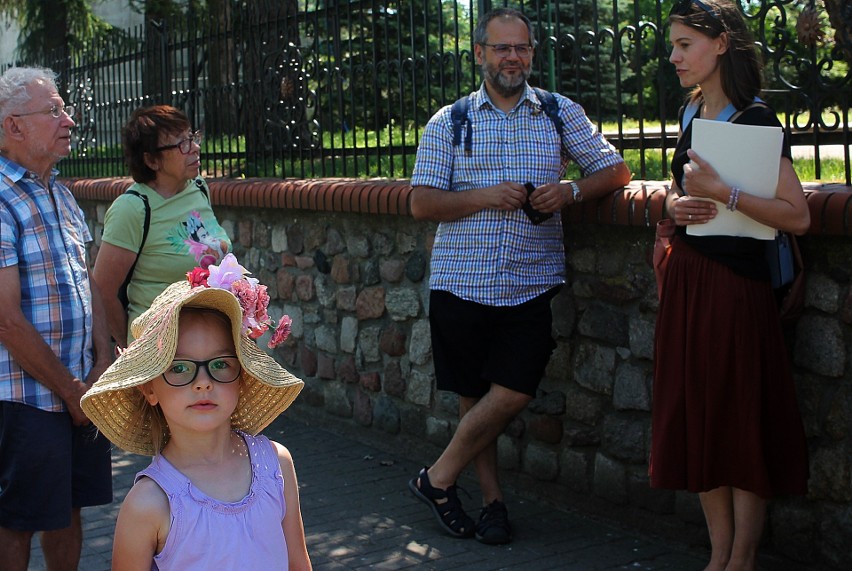
[[[852,14],[840,14],[832,44],[816,1],[740,3],[765,59],[766,98],[793,144],[813,150],[817,178],[834,145],[848,185]],[[408,177],[429,117],[478,86],[472,28],[491,4],[234,2],[99,40],[52,65],[80,110],[63,173],[125,174],[121,124],[138,106],[168,103],[204,129],[209,176]],[[668,176],[684,96],[668,63],[671,4],[513,4],[537,32],[531,83],[581,103],[641,178]]]

